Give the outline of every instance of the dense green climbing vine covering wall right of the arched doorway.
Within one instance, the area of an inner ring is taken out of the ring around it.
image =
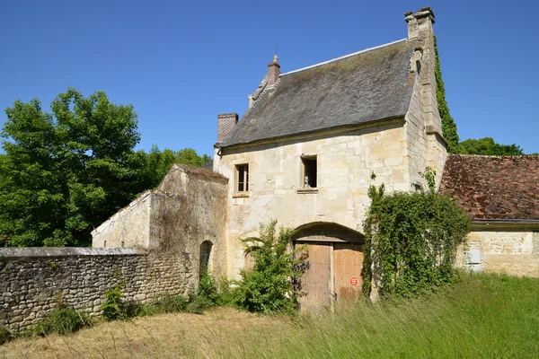
[[[434,171],[423,176],[429,192],[380,195],[376,188],[369,190],[364,293],[370,293],[372,279],[381,294],[419,293],[455,280],[456,247],[464,243],[470,219],[449,197],[433,190]]]

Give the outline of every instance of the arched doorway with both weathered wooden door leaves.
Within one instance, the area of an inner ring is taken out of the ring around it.
[[[300,278],[300,311],[332,311],[336,302],[356,300],[362,284],[364,237],[338,224],[320,223],[296,231],[305,246],[307,269]]]

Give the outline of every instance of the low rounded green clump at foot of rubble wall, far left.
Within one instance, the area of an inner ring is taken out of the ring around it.
[[[90,326],[92,326],[92,321],[86,313],[60,306],[51,311],[34,330],[36,335],[45,337],[49,334],[71,334]]]

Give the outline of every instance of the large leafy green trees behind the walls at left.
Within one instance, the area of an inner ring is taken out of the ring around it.
[[[135,152],[137,113],[104,92],[60,93],[5,109],[0,154],[0,246],[88,246],[90,232],[163,179],[172,162],[207,155],[155,147]]]

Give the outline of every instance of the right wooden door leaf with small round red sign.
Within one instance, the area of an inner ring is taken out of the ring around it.
[[[358,243],[333,243],[334,288],[337,302],[356,300],[361,291],[363,252]]]

